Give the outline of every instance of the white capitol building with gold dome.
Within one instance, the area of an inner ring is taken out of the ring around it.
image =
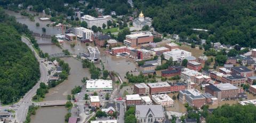
[[[148,25],[151,27],[152,19],[149,17],[144,18],[142,11],[139,14],[139,18],[136,18],[132,21],[132,26],[136,27],[138,30],[141,30],[143,26]]]

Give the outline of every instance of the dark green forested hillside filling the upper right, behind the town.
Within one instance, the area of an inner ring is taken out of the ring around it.
[[[211,41],[256,47],[256,3],[253,0],[135,0],[135,7],[154,18],[157,31],[200,34]],[[192,28],[207,29],[196,32]]]

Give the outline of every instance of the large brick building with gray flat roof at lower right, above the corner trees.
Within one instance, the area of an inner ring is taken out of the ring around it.
[[[238,88],[230,83],[207,85],[205,86],[205,93],[210,93],[217,97],[219,101],[225,99],[237,99]]]

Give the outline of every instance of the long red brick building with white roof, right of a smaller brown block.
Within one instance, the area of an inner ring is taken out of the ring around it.
[[[167,82],[162,83],[148,83],[150,94],[164,94],[170,93],[170,85]]]

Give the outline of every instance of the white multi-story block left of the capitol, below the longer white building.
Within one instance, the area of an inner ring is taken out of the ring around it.
[[[83,27],[75,28],[75,35],[80,39],[90,39],[92,41],[93,31]]]

